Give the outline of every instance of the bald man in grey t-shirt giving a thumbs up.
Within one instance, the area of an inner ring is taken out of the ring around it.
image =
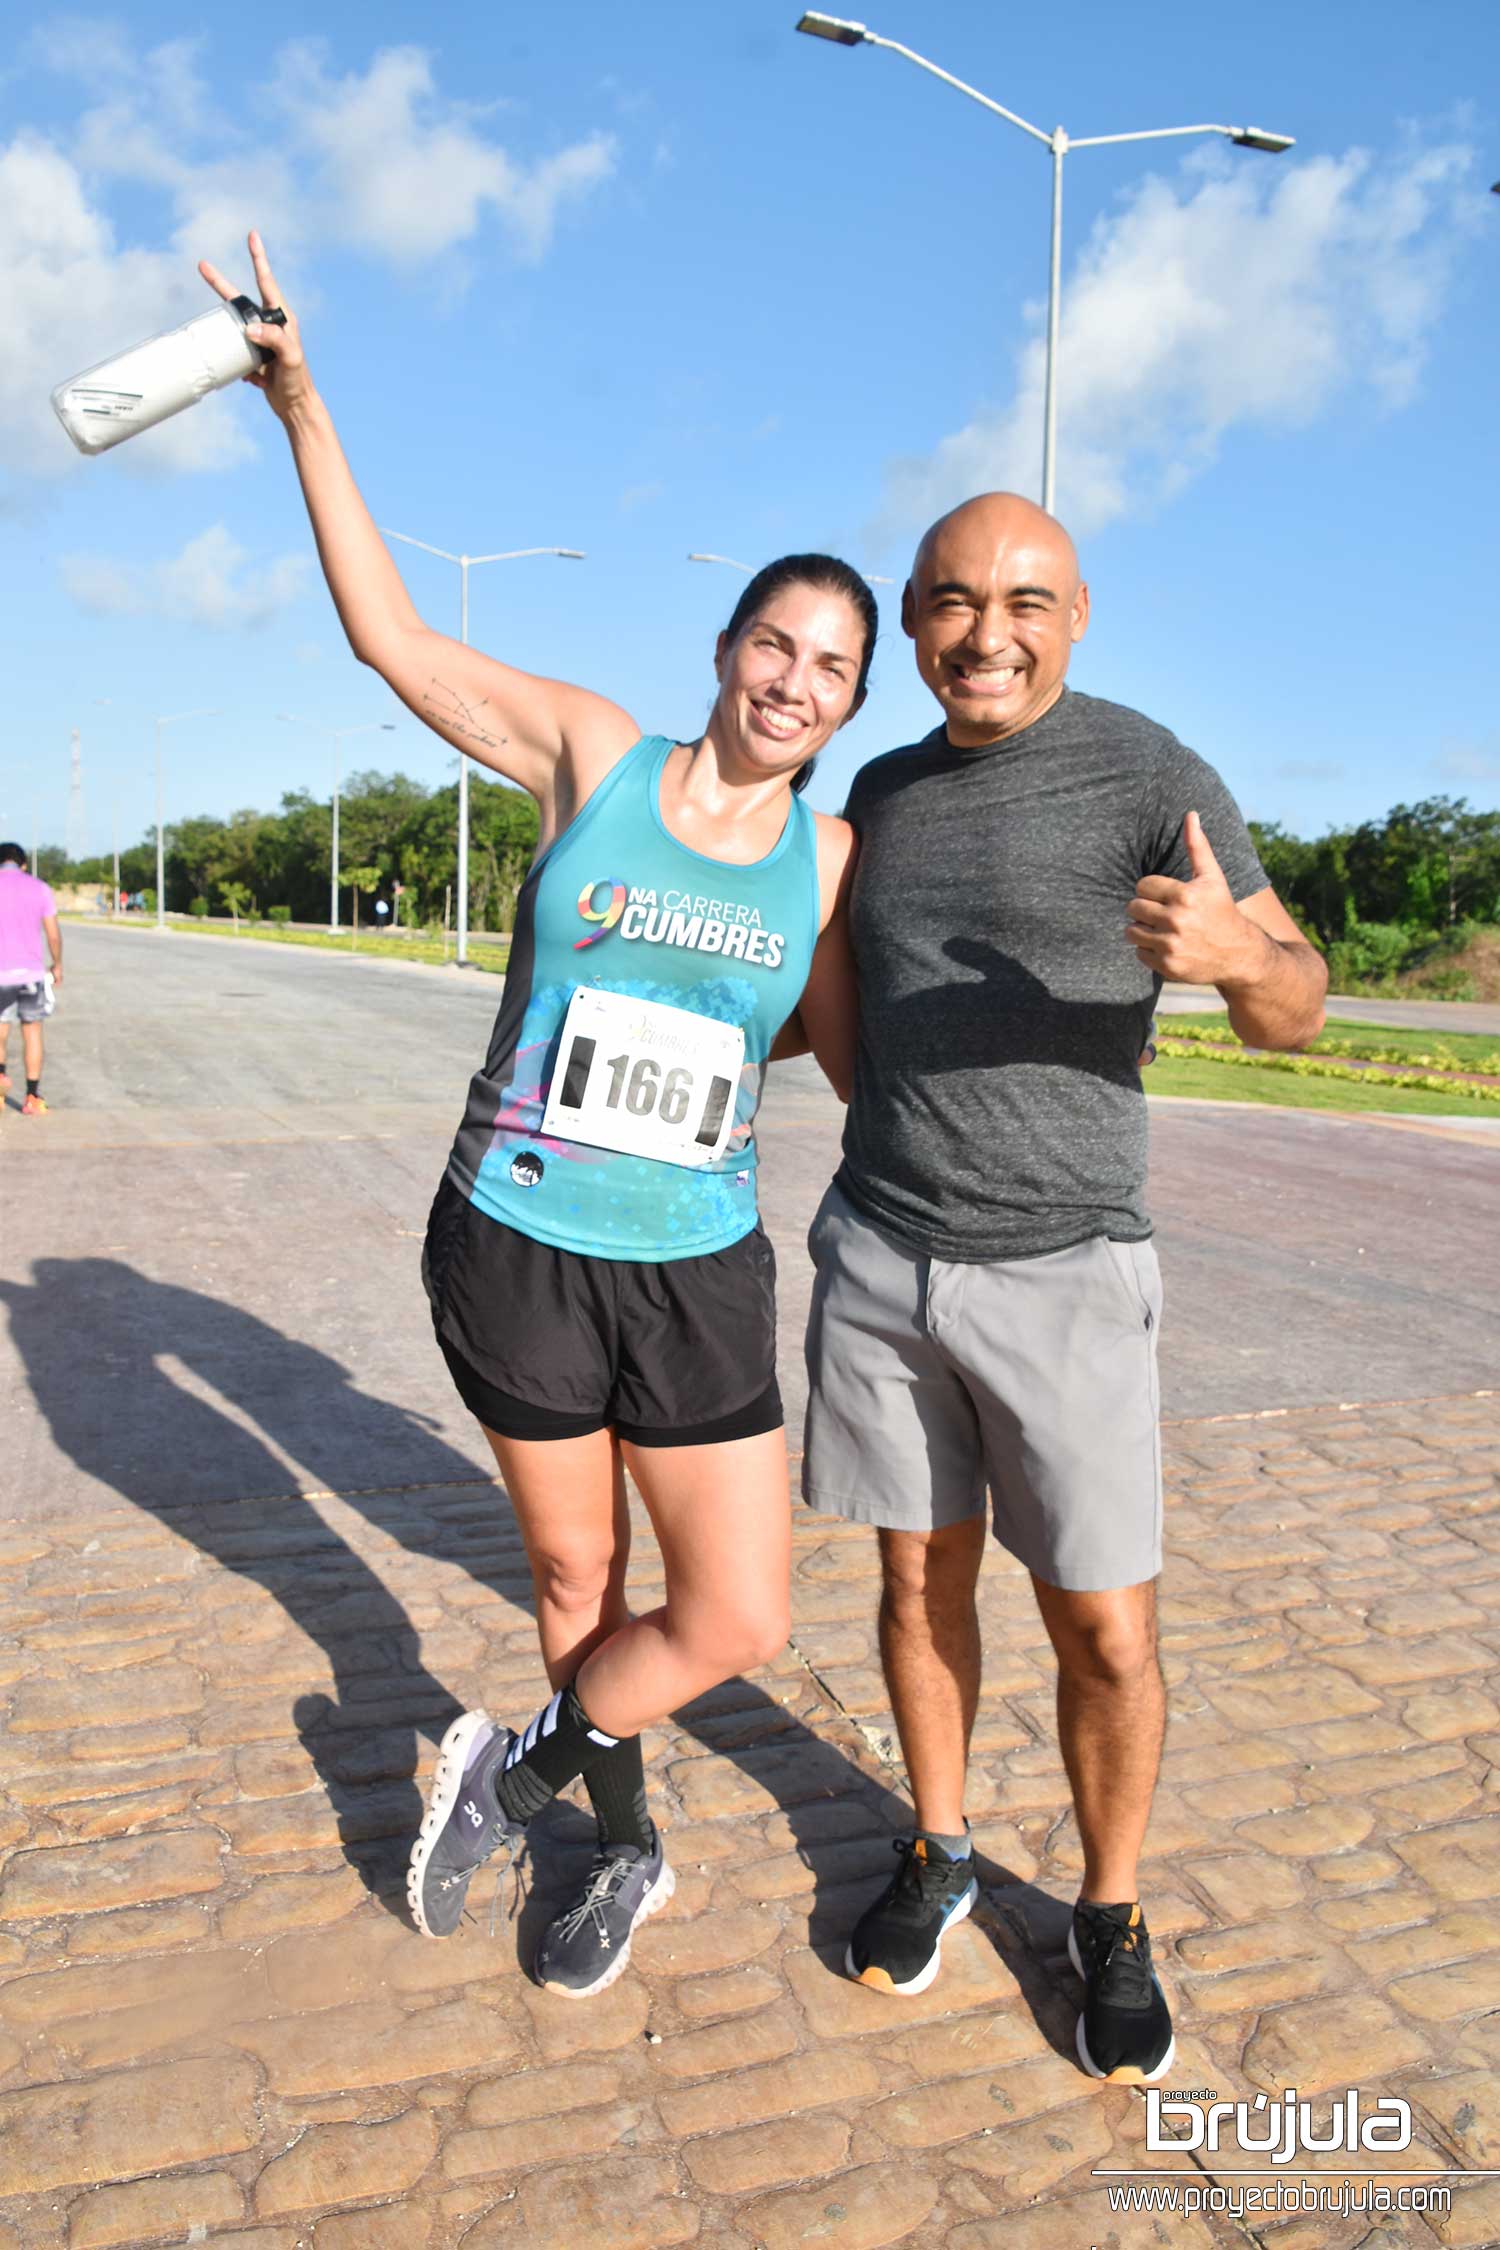
[[[922,1991],[978,1897],[963,1789],[990,1487],[1057,1654],[1079,2056],[1158,2079],[1172,2018],[1136,1883],[1165,1728],[1138,1058],[1163,979],[1214,983],[1241,1040],[1291,1048],[1322,1024],[1327,974],[1219,776],[1068,691],[1088,590],[1061,524],[1012,493],[956,508],[918,549],[902,626],[945,722],[866,765],[848,803],[859,1046],[810,1238],[805,1494],[879,1526],[915,1802],[846,1969]]]

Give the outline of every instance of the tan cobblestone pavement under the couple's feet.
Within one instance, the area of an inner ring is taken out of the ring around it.
[[[1169,2084],[1295,2086],[1318,2115],[1352,2084],[1403,2095],[1412,2146],[1385,2162],[1496,2169],[1500,1397],[1178,1422],[1167,1478],[1142,1894]],[[400,1901],[452,1710],[544,1688],[493,1485],[2,1530],[2,2250],[1500,2239],[1500,2178],[1433,2221],[1109,2212],[1104,2167],[1210,2174],[1149,2158],[1140,2095],[1073,2061],[1077,1836],[999,1555],[985,1906],[922,1998],[839,1976],[904,1804],[873,1562],[798,1510],[794,1640],[650,1739],[677,1897],[580,2005],[522,1969],[587,1854],[573,1804],[519,1904],[479,1879],[461,1937],[421,1940]]]

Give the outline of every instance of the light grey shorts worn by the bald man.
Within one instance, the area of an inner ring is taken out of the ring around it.
[[[1160,1570],[1149,1242],[951,1264],[900,1249],[830,1188],[807,1235],[803,1496],[929,1532],[974,1516],[1050,1586]]]

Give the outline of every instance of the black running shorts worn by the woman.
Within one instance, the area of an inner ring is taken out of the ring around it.
[[[501,1438],[724,1444],[783,1426],[760,1226],[704,1258],[585,1258],[501,1226],[445,1177],[423,1285],[459,1397]]]

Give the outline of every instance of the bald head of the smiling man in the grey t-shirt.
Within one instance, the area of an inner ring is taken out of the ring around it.
[[[978,749],[1039,720],[1088,626],[1073,540],[1021,493],[981,493],[924,533],[902,594],[949,740]]]

